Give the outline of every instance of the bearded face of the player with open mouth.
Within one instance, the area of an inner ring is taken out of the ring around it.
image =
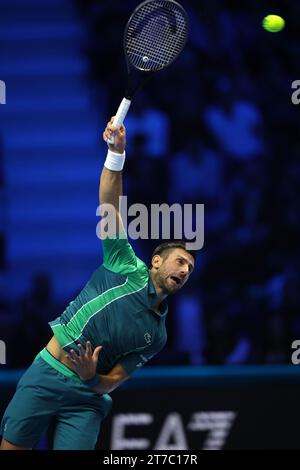
[[[194,258],[183,248],[175,248],[166,258],[159,258],[157,284],[166,294],[175,294],[190,277],[194,269]]]

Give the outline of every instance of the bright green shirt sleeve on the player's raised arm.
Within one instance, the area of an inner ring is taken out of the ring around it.
[[[102,240],[103,266],[119,274],[132,273],[137,268],[137,257],[126,236]]]

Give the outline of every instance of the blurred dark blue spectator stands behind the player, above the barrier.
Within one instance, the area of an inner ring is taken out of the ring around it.
[[[1,0],[0,339],[30,364],[101,263],[102,131],[137,1]],[[128,204],[205,204],[205,244],[152,364],[284,364],[300,337],[299,2],[182,1],[181,57],[126,118]],[[286,27],[268,33],[266,14]],[[150,261],[156,241],[133,242]]]

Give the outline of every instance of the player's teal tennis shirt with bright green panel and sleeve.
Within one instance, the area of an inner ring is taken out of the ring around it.
[[[127,238],[103,240],[103,264],[63,314],[49,323],[61,347],[78,351],[102,345],[97,372],[119,363],[128,374],[157,354],[167,340],[167,302],[153,310],[157,295],[146,264]]]

